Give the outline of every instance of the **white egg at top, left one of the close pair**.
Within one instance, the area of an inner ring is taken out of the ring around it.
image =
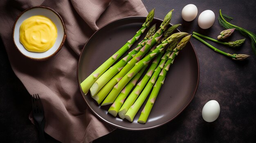
[[[198,8],[194,4],[188,4],[182,9],[181,15],[185,21],[192,21],[198,15]]]

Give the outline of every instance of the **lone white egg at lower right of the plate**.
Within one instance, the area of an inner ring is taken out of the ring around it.
[[[216,100],[208,101],[202,110],[202,117],[204,121],[213,122],[220,115],[220,104]]]

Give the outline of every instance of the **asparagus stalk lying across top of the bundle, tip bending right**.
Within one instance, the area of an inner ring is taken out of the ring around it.
[[[130,79],[135,76],[136,73],[138,73],[141,68],[143,68],[144,65],[148,64],[151,59],[153,59],[158,53],[160,53],[164,47],[171,43],[174,40],[179,39],[180,37],[183,37],[185,35],[188,35],[188,33],[179,32],[171,35],[166,40],[162,42],[162,44],[159,44],[155,50],[153,50],[149,55],[141,59],[139,62],[135,64],[135,66],[115,85],[115,87],[111,90],[111,92],[108,94],[106,99],[103,101],[102,105],[108,105],[115,101],[117,95],[121,92],[121,90],[126,86],[126,84],[130,81]]]

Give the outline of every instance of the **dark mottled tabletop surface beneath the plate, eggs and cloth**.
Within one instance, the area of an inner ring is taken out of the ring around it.
[[[163,19],[165,14],[175,9],[171,24],[181,23],[179,30],[192,33],[197,31],[216,37],[223,28],[218,24],[219,9],[232,16],[231,23],[256,33],[256,15],[253,0],[142,0],[149,11],[156,8],[155,17]],[[216,21],[210,29],[200,29],[197,18],[185,22],[181,18],[186,4],[195,4],[198,15],[211,9]],[[229,41],[244,38],[237,31]],[[200,64],[200,82],[195,98],[176,119],[159,128],[147,131],[126,131],[117,129],[94,143],[254,143],[256,142],[256,55],[252,53],[250,40],[243,46],[229,48],[209,42],[229,53],[252,55],[245,61],[234,61],[215,53],[195,39],[191,39]],[[1,42],[0,48],[0,141],[28,142],[37,140],[34,125],[28,119],[31,111],[31,98],[22,83],[11,70],[6,51]],[[220,116],[213,123],[202,119],[201,111],[209,100],[220,103]],[[48,142],[56,142],[47,136]]]

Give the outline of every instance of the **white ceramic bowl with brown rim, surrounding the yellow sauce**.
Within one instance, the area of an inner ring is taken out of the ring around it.
[[[52,22],[54,22],[54,24],[57,27],[58,36],[57,36],[56,42],[54,43],[52,48],[50,48],[48,51],[45,51],[43,53],[35,53],[35,52],[27,51],[25,47],[20,43],[20,25],[24,20],[34,15],[44,15],[45,17],[52,20]],[[18,48],[20,53],[22,53],[22,55],[25,55],[30,59],[42,61],[42,60],[49,59],[50,57],[58,53],[58,51],[61,49],[61,47],[65,42],[66,29],[61,16],[56,11],[48,7],[38,6],[38,7],[31,7],[29,9],[26,9],[22,13],[20,13],[18,18],[16,19],[16,22],[14,23],[12,36],[13,36],[13,42],[15,46]]]

